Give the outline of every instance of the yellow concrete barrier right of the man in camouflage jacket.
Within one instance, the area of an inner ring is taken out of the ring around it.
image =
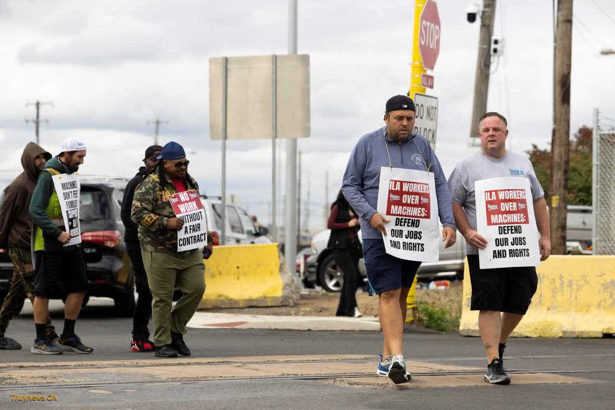
[[[204,262],[207,288],[199,309],[293,306],[299,298],[277,243],[215,246]]]

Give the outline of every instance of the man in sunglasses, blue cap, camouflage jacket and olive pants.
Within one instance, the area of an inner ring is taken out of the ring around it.
[[[153,297],[156,356],[189,356],[183,335],[205,292],[203,259],[212,254],[213,237],[207,235],[208,246],[203,251],[177,251],[177,231],[184,223],[175,217],[169,195],[191,189],[198,192],[199,186],[188,173],[189,161],[180,144],[167,143],[157,159],[157,167],[135,190],[131,217],[139,226],[141,256]],[[176,287],[181,298],[172,309]]]

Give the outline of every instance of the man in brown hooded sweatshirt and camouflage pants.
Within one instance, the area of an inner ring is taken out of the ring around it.
[[[4,189],[3,200],[0,203],[0,249],[8,250],[15,268],[9,293],[0,307],[0,350],[22,349],[22,345],[17,341],[4,337],[4,332],[9,326],[9,321],[19,313],[23,299],[27,296],[31,302],[34,302],[34,268],[30,254],[32,218],[28,213],[28,207],[36,180],[50,159],[49,152],[35,143],[28,143],[22,154],[23,172]],[[44,333],[52,340],[58,338],[49,316]]]

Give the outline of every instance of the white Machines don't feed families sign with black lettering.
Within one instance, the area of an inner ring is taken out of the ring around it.
[[[77,245],[81,243],[81,227],[79,226],[79,193],[81,184],[79,175],[60,174],[52,175],[55,193],[60,200],[60,210],[64,219],[65,231],[71,235],[71,240],[64,246]]]

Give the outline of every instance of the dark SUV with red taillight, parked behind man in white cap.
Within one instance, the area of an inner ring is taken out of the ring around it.
[[[114,301],[118,315],[132,316],[135,309],[135,275],[122,237],[120,208],[128,179],[81,175],[81,251],[87,265],[90,296]],[[1,199],[0,199],[1,200]],[[7,252],[0,253],[0,304],[9,290],[13,264]],[[65,300],[58,289],[54,299]],[[23,303],[22,303],[23,307]],[[21,310],[21,309],[20,309]]]

